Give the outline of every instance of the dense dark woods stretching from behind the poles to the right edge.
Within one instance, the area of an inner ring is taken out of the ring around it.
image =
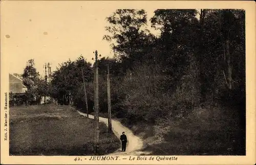
[[[206,120],[236,120],[227,114],[237,114],[244,138],[245,11],[158,9],[150,22],[147,19],[145,10],[135,9],[116,10],[106,18],[110,26],[105,27],[103,39],[109,41],[115,56],[99,59],[100,112],[108,111],[109,64],[112,114],[124,124],[153,125],[153,134],[160,136],[168,132],[164,124],[177,120],[193,123],[194,113],[203,109],[212,114],[218,109],[219,115],[209,115]],[[160,35],[146,29],[148,23]],[[50,90],[37,90],[36,95],[50,94],[60,104],[70,104],[67,98],[72,97],[77,108],[86,110],[81,72],[89,111],[93,112],[93,64],[82,55],[76,61],[63,62],[53,73],[50,87],[41,88]],[[23,74],[29,91],[33,75]]]

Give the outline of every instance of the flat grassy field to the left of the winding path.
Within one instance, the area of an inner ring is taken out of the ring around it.
[[[94,123],[71,106],[10,108],[10,155],[93,155]],[[100,155],[116,151],[119,139],[100,123]]]

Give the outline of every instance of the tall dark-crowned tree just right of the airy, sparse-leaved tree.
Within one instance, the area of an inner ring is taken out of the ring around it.
[[[190,56],[195,54],[197,38],[196,10],[157,9],[151,18],[152,27],[160,30],[155,44],[155,59],[169,75],[170,87],[175,87],[186,73]]]

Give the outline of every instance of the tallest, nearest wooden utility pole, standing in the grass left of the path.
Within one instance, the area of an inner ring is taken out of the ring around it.
[[[93,52],[94,53],[94,52]],[[101,55],[99,55],[100,57]],[[94,82],[95,82],[95,95],[94,95],[94,121],[95,121],[95,141],[94,141],[94,153],[98,155],[99,153],[99,78],[98,78],[98,52],[95,51],[95,72],[94,72]]]

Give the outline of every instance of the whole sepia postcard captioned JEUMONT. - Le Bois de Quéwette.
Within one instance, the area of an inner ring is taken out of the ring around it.
[[[1,154],[248,155],[244,8],[14,2],[1,3]]]

